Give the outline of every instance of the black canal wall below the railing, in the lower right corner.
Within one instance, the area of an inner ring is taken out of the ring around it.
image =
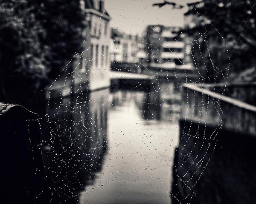
[[[255,144],[253,136],[180,121],[172,203],[255,203]]]

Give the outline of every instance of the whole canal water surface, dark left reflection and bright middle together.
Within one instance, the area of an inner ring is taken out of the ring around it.
[[[51,203],[170,204],[179,110],[161,94],[102,90],[49,102]]]

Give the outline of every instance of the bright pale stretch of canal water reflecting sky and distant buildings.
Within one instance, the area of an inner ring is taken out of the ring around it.
[[[161,104],[157,92],[143,91],[117,90],[109,102],[108,153],[79,203],[169,204],[178,138],[177,122],[169,122],[170,106]]]

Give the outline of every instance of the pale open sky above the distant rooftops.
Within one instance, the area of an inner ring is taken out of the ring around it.
[[[147,25],[183,26],[186,8],[172,10],[169,5],[161,8],[152,6],[153,3],[162,2],[163,0],[105,0],[105,8],[111,16],[110,26],[126,34],[142,34]],[[189,0],[176,2],[187,3]]]

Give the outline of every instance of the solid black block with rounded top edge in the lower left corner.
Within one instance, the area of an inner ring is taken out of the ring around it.
[[[1,103],[0,130],[2,201],[49,203],[51,196],[44,182],[37,115],[22,106]]]

